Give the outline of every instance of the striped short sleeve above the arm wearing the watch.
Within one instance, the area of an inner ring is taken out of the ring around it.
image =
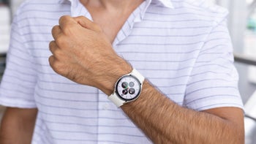
[[[193,110],[243,108],[226,18],[213,26],[197,56],[187,83],[184,107]]]

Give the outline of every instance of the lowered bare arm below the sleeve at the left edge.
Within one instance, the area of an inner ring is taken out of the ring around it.
[[[37,109],[7,107],[1,121],[0,143],[31,143]]]

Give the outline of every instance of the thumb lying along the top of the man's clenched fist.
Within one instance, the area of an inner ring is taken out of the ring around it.
[[[102,29],[97,25],[96,23],[92,22],[86,17],[79,16],[75,17],[74,20],[80,24],[80,26],[83,26],[86,29],[91,29],[92,31],[102,31]]]

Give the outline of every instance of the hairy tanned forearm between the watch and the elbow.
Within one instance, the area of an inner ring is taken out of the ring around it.
[[[154,143],[243,143],[229,121],[178,106],[148,82],[122,109]]]

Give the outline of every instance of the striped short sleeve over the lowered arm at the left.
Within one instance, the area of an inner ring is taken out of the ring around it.
[[[12,21],[10,47],[7,53],[7,67],[0,85],[0,105],[7,107],[36,107],[34,86],[36,69],[33,57],[23,37],[23,27],[19,26],[18,15]]]

